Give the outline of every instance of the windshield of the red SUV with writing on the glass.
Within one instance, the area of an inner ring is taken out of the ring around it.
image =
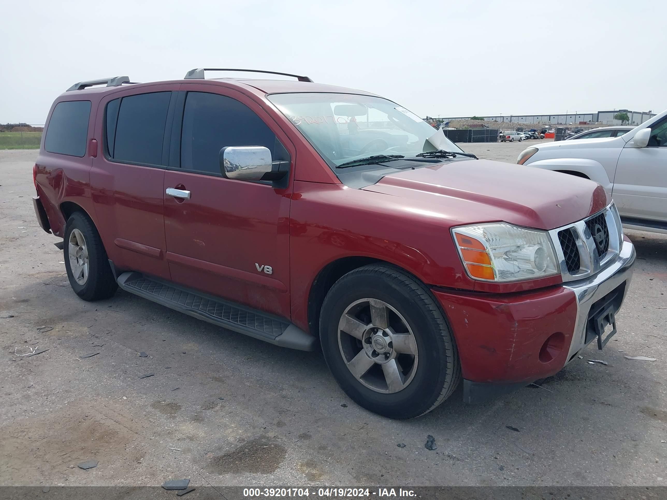
[[[439,149],[462,152],[442,130],[381,97],[336,93],[267,97],[330,167],[380,154],[416,157]]]

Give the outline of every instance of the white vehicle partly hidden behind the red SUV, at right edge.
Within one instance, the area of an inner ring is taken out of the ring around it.
[[[618,137],[529,147],[517,163],[596,181],[624,227],[667,234],[667,111]]]

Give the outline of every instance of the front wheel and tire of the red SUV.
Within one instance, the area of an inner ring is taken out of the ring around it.
[[[333,377],[374,413],[418,417],[460,383],[456,343],[440,306],[395,267],[367,265],[339,279],[324,299],[319,331]]]

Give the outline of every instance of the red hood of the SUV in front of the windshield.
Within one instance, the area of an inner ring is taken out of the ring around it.
[[[387,175],[366,191],[410,200],[407,209],[450,225],[506,221],[554,229],[602,210],[598,183],[548,170],[490,160],[452,161]]]

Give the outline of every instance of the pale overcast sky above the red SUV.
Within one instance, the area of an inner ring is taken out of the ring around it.
[[[667,108],[664,0],[5,2],[0,123],[77,81],[305,74],[424,117]]]

